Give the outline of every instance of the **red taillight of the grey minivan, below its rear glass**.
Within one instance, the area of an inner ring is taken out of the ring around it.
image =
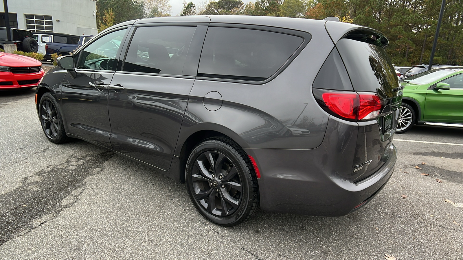
[[[382,100],[375,93],[327,91],[321,96],[330,111],[350,120],[375,119],[382,108]]]

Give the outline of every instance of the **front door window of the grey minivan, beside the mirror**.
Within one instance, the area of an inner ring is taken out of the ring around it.
[[[126,30],[127,29],[122,29],[110,32],[86,46],[85,49],[79,52],[76,67],[84,69],[115,70],[116,54]]]

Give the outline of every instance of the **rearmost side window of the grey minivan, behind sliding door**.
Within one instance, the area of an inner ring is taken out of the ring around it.
[[[302,37],[253,29],[209,27],[198,76],[261,81],[298,49]]]

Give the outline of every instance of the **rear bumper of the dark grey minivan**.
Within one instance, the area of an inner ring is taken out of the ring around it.
[[[263,210],[313,216],[344,216],[368,203],[391,177],[397,159],[391,144],[382,167],[353,182],[325,171],[326,164],[336,162],[324,161],[318,149],[245,150],[256,158],[262,175],[258,181]]]

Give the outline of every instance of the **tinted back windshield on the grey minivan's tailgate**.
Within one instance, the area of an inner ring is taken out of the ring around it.
[[[395,69],[383,48],[351,39],[336,43],[356,91],[376,92],[383,99],[395,96],[399,86]]]

